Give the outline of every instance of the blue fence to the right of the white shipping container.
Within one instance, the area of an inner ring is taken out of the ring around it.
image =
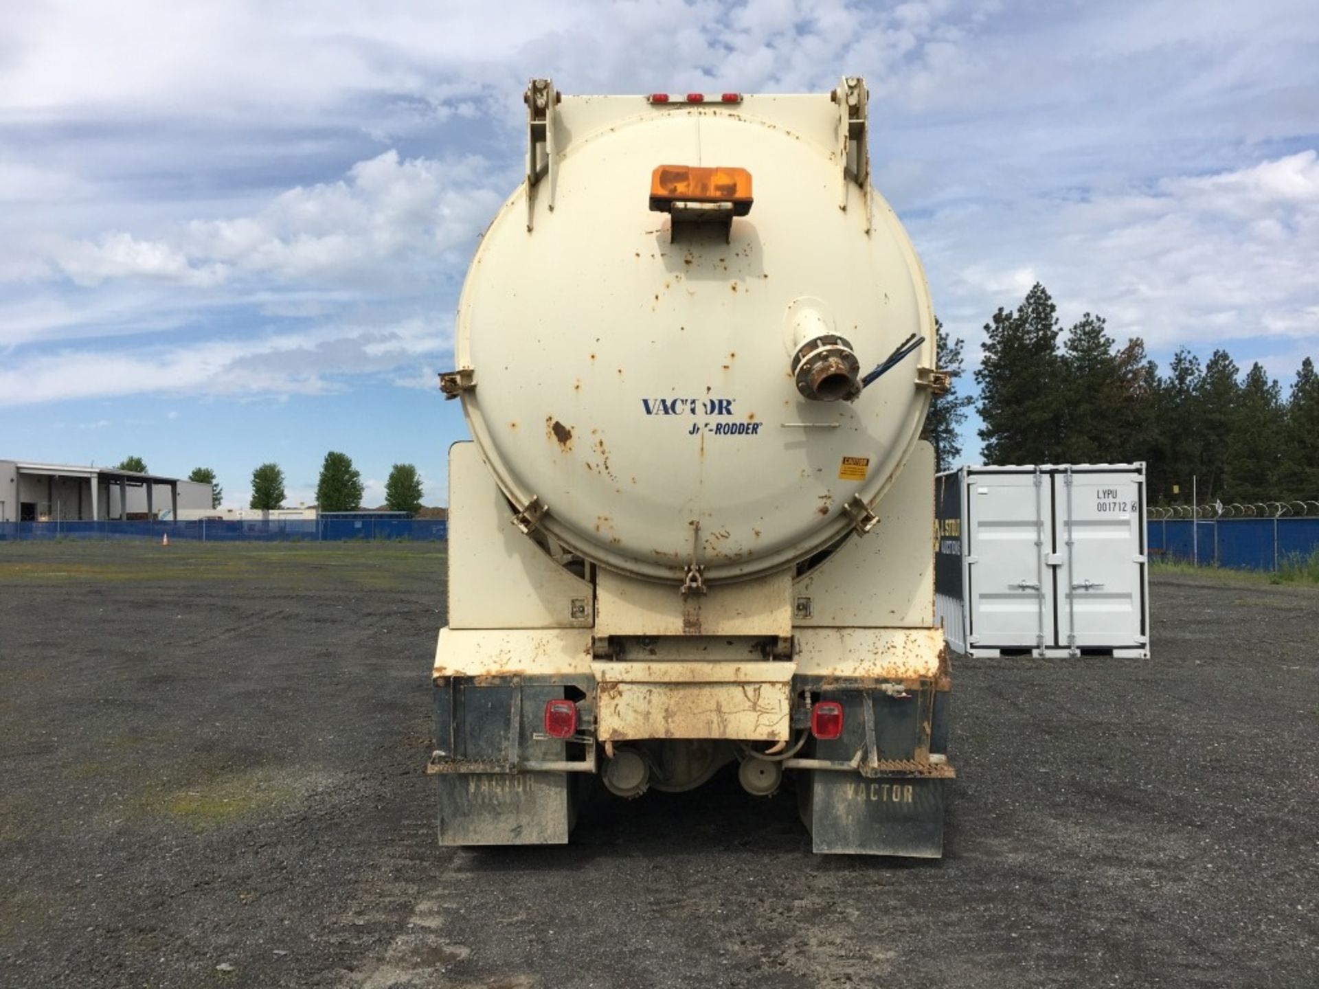
[[[1287,559],[1319,551],[1319,518],[1161,518],[1146,522],[1151,555],[1192,560],[1192,525],[1199,529],[1202,564],[1277,570]]]

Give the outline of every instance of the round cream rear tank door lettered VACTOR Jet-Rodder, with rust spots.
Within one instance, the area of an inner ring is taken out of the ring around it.
[[[855,190],[840,208],[838,154],[773,99],[574,135],[553,210],[537,196],[529,229],[521,186],[468,272],[472,435],[514,508],[543,508],[543,531],[599,566],[681,582],[695,563],[711,583],[790,567],[878,510],[919,436],[935,331],[911,244],[878,195],[869,223]],[[667,162],[745,169],[751,211],[674,229],[648,198]]]

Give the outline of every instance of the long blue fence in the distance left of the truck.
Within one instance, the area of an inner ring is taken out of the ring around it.
[[[173,539],[199,542],[319,542],[343,539],[448,538],[443,518],[224,518],[182,522],[99,520],[96,522],[0,522],[0,542],[42,539]]]

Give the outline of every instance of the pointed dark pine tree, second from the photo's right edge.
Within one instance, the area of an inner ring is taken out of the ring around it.
[[[1224,447],[1223,494],[1236,501],[1278,497],[1283,436],[1282,389],[1252,364],[1241,382]]]

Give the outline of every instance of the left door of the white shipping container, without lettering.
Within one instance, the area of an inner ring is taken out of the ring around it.
[[[967,473],[969,649],[1043,649],[1054,637],[1053,491],[1038,471]]]

